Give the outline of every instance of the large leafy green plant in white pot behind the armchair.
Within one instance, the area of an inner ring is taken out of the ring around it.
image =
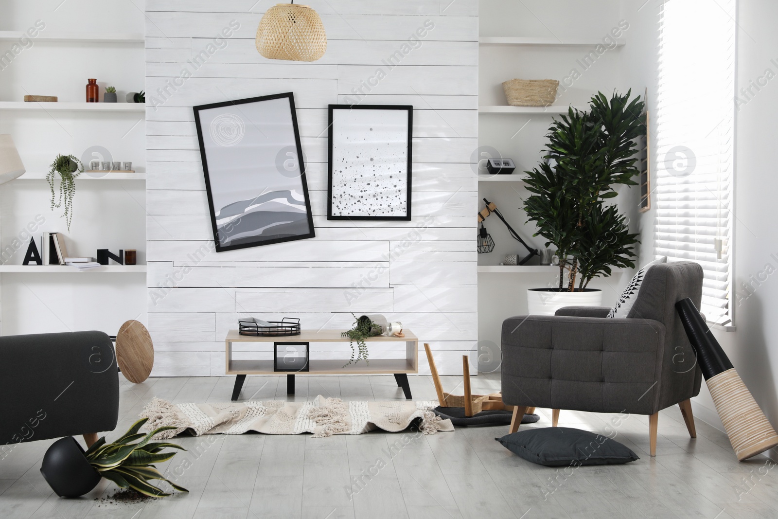
[[[645,132],[646,117],[640,96],[630,100],[631,93],[614,93],[610,100],[598,93],[588,110],[571,107],[555,119],[544,161],[526,172],[533,193],[524,200],[527,221],[559,259],[557,286],[527,291],[530,314],[597,306],[601,291],[587,288],[589,282],[611,275],[614,267],[635,267],[637,234],[629,232],[626,216],[610,200],[615,186],[637,184],[636,139]]]

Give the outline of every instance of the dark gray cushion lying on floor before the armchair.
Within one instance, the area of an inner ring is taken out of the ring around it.
[[[617,465],[640,458],[625,445],[572,427],[527,429],[495,438],[506,449],[538,465]]]

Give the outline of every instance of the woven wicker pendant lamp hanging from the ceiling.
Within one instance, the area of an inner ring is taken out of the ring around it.
[[[268,59],[316,61],[327,50],[327,34],[308,5],[276,4],[262,16],[256,44]]]

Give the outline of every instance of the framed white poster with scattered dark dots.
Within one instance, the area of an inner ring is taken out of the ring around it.
[[[410,220],[413,107],[329,105],[327,219]]]

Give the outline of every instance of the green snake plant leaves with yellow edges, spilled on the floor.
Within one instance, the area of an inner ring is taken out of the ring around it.
[[[166,479],[153,465],[162,463],[176,455],[175,452],[162,452],[163,449],[173,448],[186,451],[184,447],[166,442],[151,442],[156,433],[163,430],[172,430],[175,427],[159,427],[150,433],[138,433],[148,418],[140,419],[133,423],[124,436],[112,444],[107,444],[105,437],[97,440],[86,451],[85,456],[89,465],[100,472],[105,479],[117,484],[123,489],[133,489],[145,496],[166,497],[163,489],[152,485],[149,481],[159,479],[172,486],[178,492],[189,492],[183,486],[178,486],[170,479]],[[140,440],[138,443],[131,443]]]

